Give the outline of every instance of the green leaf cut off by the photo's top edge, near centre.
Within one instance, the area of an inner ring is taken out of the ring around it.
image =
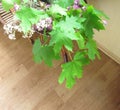
[[[63,8],[67,8],[74,3],[74,0],[55,0],[54,3],[58,4],[59,6]]]

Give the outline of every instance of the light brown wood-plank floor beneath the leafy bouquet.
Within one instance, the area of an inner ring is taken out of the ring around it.
[[[62,61],[38,65],[31,51],[27,40],[9,40],[0,26],[0,110],[120,110],[120,65],[102,52],[68,90],[57,83]]]

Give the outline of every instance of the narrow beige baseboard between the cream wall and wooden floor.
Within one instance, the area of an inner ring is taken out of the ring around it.
[[[109,56],[111,59],[113,59],[115,62],[120,64],[120,57],[116,56],[114,53],[103,47],[101,44],[97,42],[98,48],[104,52],[107,56]]]

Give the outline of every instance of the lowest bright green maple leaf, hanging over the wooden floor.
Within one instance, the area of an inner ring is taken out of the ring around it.
[[[66,80],[66,87],[72,88],[76,82],[76,78],[82,77],[82,65],[79,61],[71,61],[62,64],[62,73],[60,74],[58,82],[62,84]]]

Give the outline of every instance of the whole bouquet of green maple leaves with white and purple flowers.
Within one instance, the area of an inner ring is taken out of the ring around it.
[[[31,39],[35,62],[52,66],[53,60],[64,59],[58,82],[66,81],[67,88],[83,76],[85,65],[100,58],[94,30],[105,29],[107,16],[86,1],[2,0],[2,6],[14,15],[4,25],[6,33],[10,39],[16,39],[16,31]],[[34,33],[39,36],[32,38]]]

